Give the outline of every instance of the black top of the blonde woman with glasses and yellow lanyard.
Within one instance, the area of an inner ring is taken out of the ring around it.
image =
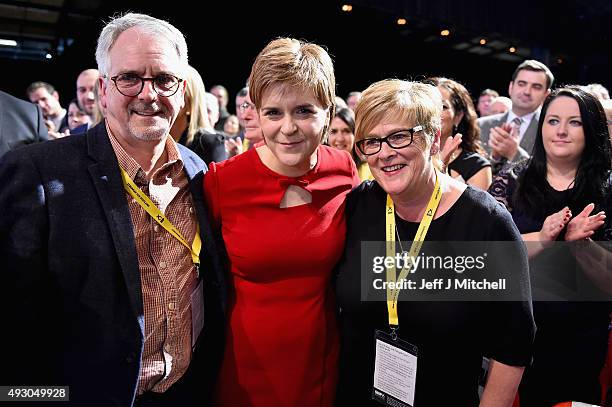
[[[361,242],[385,240],[386,193],[375,182],[362,183],[347,201],[347,241],[338,265],[337,293],[341,308],[341,357],[338,405],[376,405],[371,401],[374,377],[374,332],[388,332],[384,301],[360,300]],[[418,223],[396,215],[404,249]],[[502,205],[486,192],[467,187],[458,201],[432,221],[426,241],[520,241],[516,226]],[[415,302],[398,305],[399,336],[418,348],[415,405],[478,405],[482,356],[524,366],[531,358],[534,324],[531,313],[527,254],[516,249],[516,266],[508,276],[521,287],[517,302]],[[492,256],[489,256],[492,257]],[[384,274],[383,274],[384,276]]]

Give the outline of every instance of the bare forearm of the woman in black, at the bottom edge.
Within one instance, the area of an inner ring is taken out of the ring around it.
[[[509,366],[491,359],[489,377],[480,399],[480,407],[512,406],[523,370],[524,367]]]

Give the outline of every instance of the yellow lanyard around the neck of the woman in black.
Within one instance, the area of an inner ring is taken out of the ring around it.
[[[427,235],[427,231],[429,230],[429,225],[433,220],[434,215],[436,214],[436,210],[438,209],[438,205],[440,204],[440,199],[442,198],[442,190],[440,188],[440,175],[436,171],[436,186],[434,187],[434,191],[431,194],[431,198],[429,198],[429,203],[427,204],[427,209],[423,214],[423,219],[421,219],[421,223],[419,224],[419,228],[414,237],[414,241],[412,242],[412,246],[410,247],[410,252],[408,256],[408,265],[404,267],[399,275],[397,281],[402,281],[408,275],[408,272],[412,268],[412,259],[414,259],[421,250],[421,246],[423,246],[423,241],[425,241],[425,235]],[[395,257],[395,206],[393,205],[393,200],[389,195],[387,195],[387,208],[386,208],[386,233],[387,233],[387,257]],[[393,267],[387,268],[387,283],[396,282],[396,270],[395,263]],[[396,284],[396,286],[400,286],[400,284]],[[387,311],[389,312],[389,325],[393,327],[399,326],[399,320],[397,317],[397,298],[399,297],[400,288],[394,287],[393,289],[389,288],[389,284],[387,284]]]

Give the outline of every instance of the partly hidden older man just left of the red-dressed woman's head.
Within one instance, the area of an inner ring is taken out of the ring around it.
[[[263,141],[263,134],[259,127],[257,109],[249,97],[249,88],[245,87],[236,96],[236,115],[242,131],[238,136],[225,141],[228,157],[250,150],[257,143]]]

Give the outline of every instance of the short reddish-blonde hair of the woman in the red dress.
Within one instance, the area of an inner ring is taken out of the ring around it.
[[[334,117],[334,65],[327,51],[319,45],[293,38],[270,41],[257,55],[249,76],[249,96],[258,110],[264,92],[276,84],[312,89],[317,101],[330,109],[330,120]]]

